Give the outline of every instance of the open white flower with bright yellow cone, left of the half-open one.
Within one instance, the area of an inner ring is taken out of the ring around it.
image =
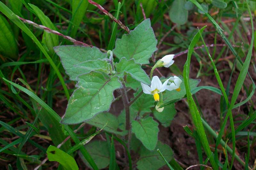
[[[154,95],[155,101],[159,101],[158,93],[163,92],[165,90],[168,81],[169,79],[164,81],[164,84],[162,84],[161,80],[157,76],[154,76],[152,78],[150,87],[144,83],[140,83],[140,84],[144,93],[149,95]]]

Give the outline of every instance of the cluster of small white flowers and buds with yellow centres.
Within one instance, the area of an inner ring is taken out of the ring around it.
[[[172,60],[174,57],[173,54],[166,55],[162,59],[158,60],[156,62],[156,67],[170,67],[174,60]],[[164,83],[162,84],[161,80],[158,76],[154,76],[151,81],[151,86],[148,86],[144,83],[140,83],[141,87],[143,89],[143,92],[149,95],[153,95],[156,102],[159,101],[160,97],[158,93],[163,92],[164,90],[177,90],[180,91],[180,84],[182,80],[180,80],[179,77],[174,76],[168,78]],[[156,105],[156,110],[158,112],[162,112],[164,110],[164,107],[159,108],[159,105]]]

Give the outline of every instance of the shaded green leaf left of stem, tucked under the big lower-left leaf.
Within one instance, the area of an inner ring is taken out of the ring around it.
[[[123,132],[117,131],[119,126],[118,119],[115,115],[108,112],[100,113],[86,123],[101,129],[107,122],[108,124],[104,128],[104,131],[119,134],[122,136],[124,136],[127,133],[126,131],[123,131]]]

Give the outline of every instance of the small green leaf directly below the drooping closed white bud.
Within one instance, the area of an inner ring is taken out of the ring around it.
[[[174,103],[164,106],[164,110],[160,113],[154,109],[154,117],[164,126],[170,126],[177,111],[175,110]]]

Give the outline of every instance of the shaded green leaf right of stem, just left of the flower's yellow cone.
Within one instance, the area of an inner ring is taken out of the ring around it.
[[[138,89],[136,93],[134,93],[134,97],[136,97],[142,89]],[[151,112],[150,108],[154,107],[155,100],[152,95],[148,95],[143,93],[132,105],[131,108],[136,110],[137,112],[143,114],[147,112]]]

